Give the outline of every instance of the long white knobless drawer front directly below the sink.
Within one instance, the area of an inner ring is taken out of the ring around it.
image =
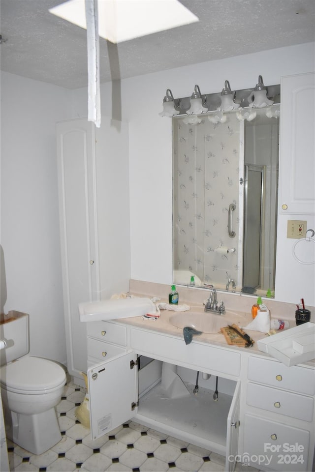
[[[192,342],[164,334],[149,333],[131,329],[131,349],[138,354],[166,360],[195,370],[211,370],[218,375],[228,374],[238,377],[241,368],[239,353]]]

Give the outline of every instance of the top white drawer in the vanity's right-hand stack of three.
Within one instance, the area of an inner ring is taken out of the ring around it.
[[[281,362],[250,356],[248,379],[268,386],[314,395],[315,370],[306,367],[287,367]]]

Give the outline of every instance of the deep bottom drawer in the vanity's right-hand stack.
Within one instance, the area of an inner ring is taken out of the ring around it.
[[[243,461],[247,465],[271,471],[310,471],[309,442],[307,430],[245,415]]]

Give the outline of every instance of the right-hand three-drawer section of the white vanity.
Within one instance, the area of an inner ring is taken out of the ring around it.
[[[314,369],[249,357],[243,451],[250,465],[267,471],[311,470],[314,393]]]

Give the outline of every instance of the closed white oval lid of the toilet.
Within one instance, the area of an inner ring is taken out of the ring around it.
[[[17,393],[49,393],[66,381],[63,368],[48,359],[25,355],[1,367],[1,385]]]

